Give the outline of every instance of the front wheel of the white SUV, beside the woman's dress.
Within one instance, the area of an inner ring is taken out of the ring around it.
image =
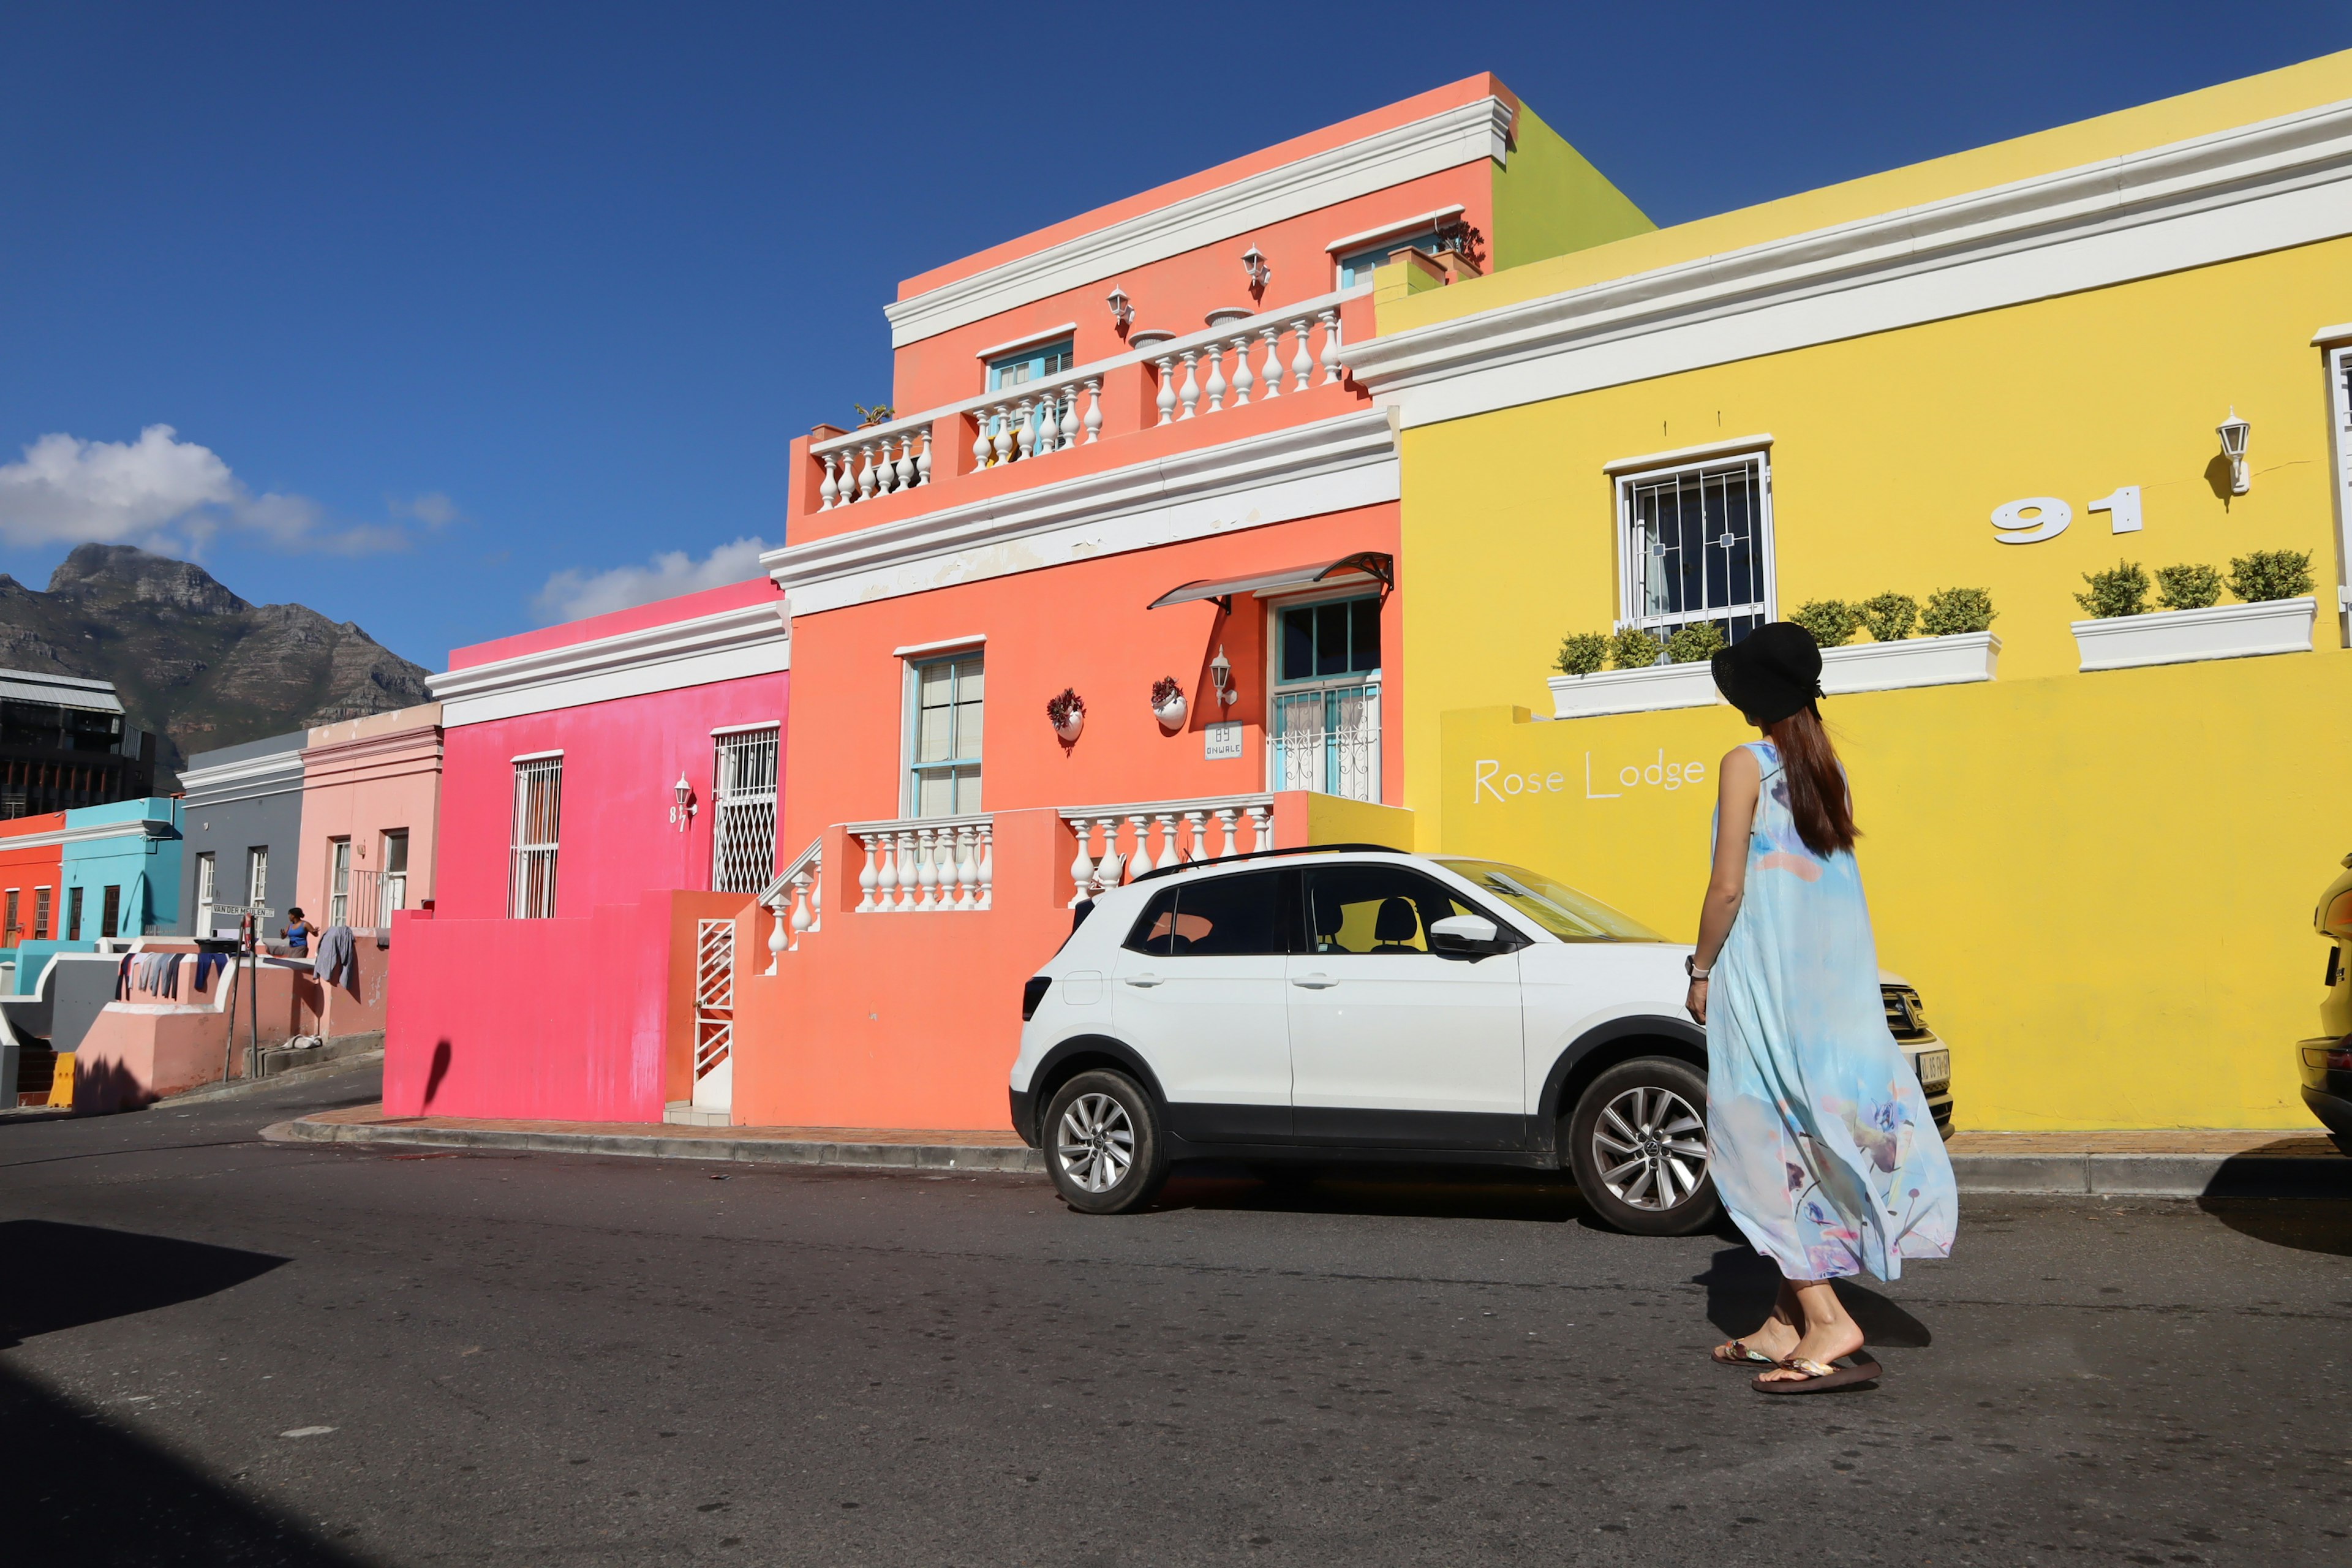
[[[1670,1056],[1602,1072],[1569,1114],[1569,1168],[1592,1211],[1637,1237],[1686,1237],[1724,1211],[1708,1180],[1708,1079]]]

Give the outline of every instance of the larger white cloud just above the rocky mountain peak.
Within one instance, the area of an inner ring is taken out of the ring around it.
[[[447,505],[447,496],[430,501]],[[148,425],[136,442],[52,433],[31,442],[24,461],[0,463],[0,543],[99,541],[200,555],[223,529],[256,534],[280,550],[407,548],[400,529],[336,527],[308,496],[254,494],[212,447],[179,440],[172,425]]]

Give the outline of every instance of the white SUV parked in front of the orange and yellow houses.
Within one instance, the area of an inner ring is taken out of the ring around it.
[[[1021,999],[1014,1128],[1124,1213],[1171,1159],[1569,1168],[1609,1222],[1715,1220],[1708,1039],[1668,943],[1498,860],[1369,844],[1148,872],[1080,905]],[[1886,978],[1950,1124],[1950,1053]]]

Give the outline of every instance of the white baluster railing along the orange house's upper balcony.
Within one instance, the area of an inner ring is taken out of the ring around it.
[[[1157,371],[1155,407],[1162,425],[1240,409],[1251,400],[1282,397],[1284,383],[1291,393],[1303,393],[1317,381],[1324,386],[1343,381],[1348,367],[1338,308],[1357,292],[1362,289],[1324,294],[1188,336],[1138,331],[1136,336],[1155,341],[1058,376],[811,442],[809,454],[826,465],[826,477],[816,487],[818,510],[830,512],[837,505],[927,487],[931,425],[955,414],[971,421],[976,468],[1025,463],[1068,447],[1094,444],[1103,433],[1103,376],[1129,364],[1150,364]],[[1317,324],[1319,346],[1310,343]]]

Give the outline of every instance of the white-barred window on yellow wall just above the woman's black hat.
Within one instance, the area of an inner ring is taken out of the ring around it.
[[[1712,621],[1738,642],[1771,621],[1771,468],[1764,454],[1618,477],[1621,625],[1663,642]]]

